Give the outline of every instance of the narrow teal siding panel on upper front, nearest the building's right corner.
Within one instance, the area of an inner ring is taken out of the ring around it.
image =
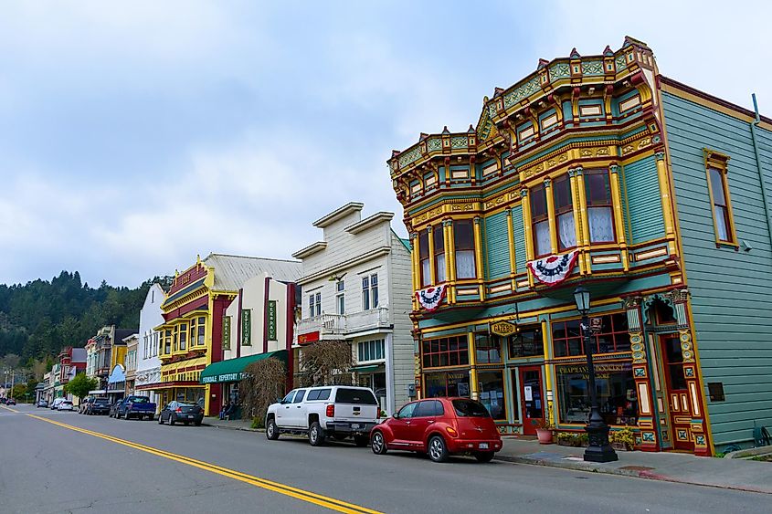
[[[660,184],[657,181],[657,161],[645,157],[625,165],[629,225],[633,244],[665,235]],[[627,212],[625,213],[627,215]]]

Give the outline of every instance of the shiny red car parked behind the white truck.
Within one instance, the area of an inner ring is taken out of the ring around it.
[[[451,454],[489,462],[502,449],[502,436],[485,405],[469,398],[432,398],[406,404],[370,433],[373,453],[428,453],[434,462]]]

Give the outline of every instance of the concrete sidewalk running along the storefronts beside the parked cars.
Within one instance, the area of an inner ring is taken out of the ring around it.
[[[206,417],[204,425],[264,432],[263,429],[251,428],[251,422],[245,420],[220,421],[216,417]],[[672,452],[618,452],[617,462],[598,464],[584,461],[584,448],[540,445],[535,440],[512,436],[504,436],[502,440],[504,445],[502,451],[496,454],[497,460],[772,494],[770,462]]]

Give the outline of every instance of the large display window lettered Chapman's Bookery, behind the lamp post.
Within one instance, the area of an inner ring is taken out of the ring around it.
[[[587,423],[590,398],[587,365],[555,366],[561,423]],[[595,364],[600,414],[608,425],[637,425],[638,397],[630,362]]]

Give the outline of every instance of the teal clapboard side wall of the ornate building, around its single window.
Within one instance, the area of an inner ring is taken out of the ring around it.
[[[754,422],[772,426],[772,241],[750,126],[672,94],[662,99],[703,381],[724,383],[724,402],[705,391],[714,444],[747,445]],[[757,134],[769,192],[772,133]],[[749,251],[715,245],[704,147],[731,157],[737,237]]]

